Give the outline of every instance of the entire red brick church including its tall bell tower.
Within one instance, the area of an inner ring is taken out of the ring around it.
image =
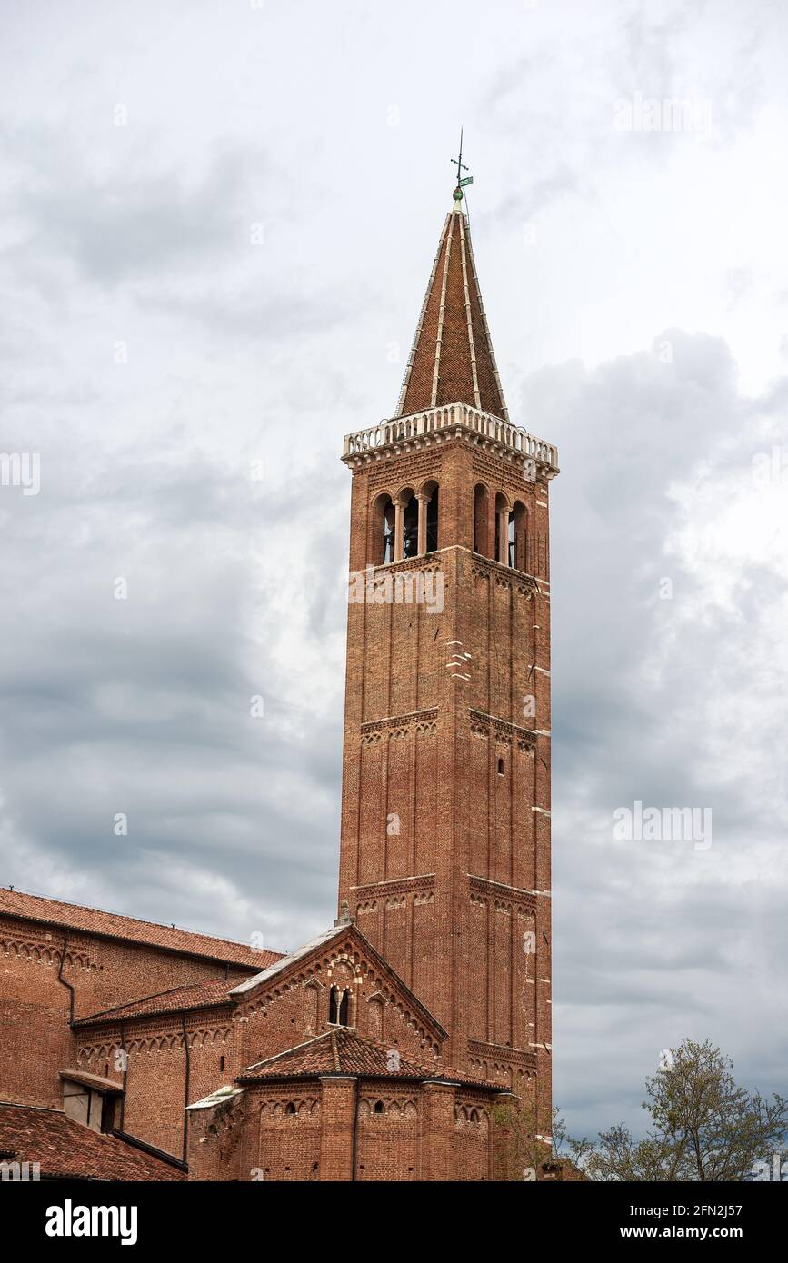
[[[349,434],[342,460],[337,919],[282,955],[0,889],[9,1170],[568,1175],[551,1158],[558,464],[509,421],[460,189],[395,416]]]

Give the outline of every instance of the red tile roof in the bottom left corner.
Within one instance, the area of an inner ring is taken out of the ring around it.
[[[39,1162],[42,1176],[186,1180],[186,1172],[116,1135],[82,1127],[57,1109],[0,1104],[3,1162]]]

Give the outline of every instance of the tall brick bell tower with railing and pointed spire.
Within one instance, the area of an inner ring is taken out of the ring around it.
[[[551,1133],[548,488],[506,412],[462,189],[352,471],[340,904]]]

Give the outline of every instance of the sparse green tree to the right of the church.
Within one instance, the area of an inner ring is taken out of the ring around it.
[[[788,1100],[748,1092],[732,1062],[708,1039],[684,1039],[645,1081],[649,1129],[633,1139],[619,1123],[597,1142],[572,1140],[559,1130],[573,1161],[591,1180],[741,1181],[754,1163],[782,1153]]]

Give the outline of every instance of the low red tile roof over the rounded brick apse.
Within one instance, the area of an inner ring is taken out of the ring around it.
[[[268,1079],[346,1074],[374,1079],[448,1079],[451,1082],[474,1084],[500,1091],[500,1085],[480,1082],[438,1061],[419,1065],[400,1055],[398,1068],[390,1068],[393,1051],[397,1050],[386,1048],[374,1039],[365,1039],[350,1027],[337,1027],[296,1048],[288,1048],[287,1052],[249,1066],[239,1075],[237,1081],[255,1082]]]

